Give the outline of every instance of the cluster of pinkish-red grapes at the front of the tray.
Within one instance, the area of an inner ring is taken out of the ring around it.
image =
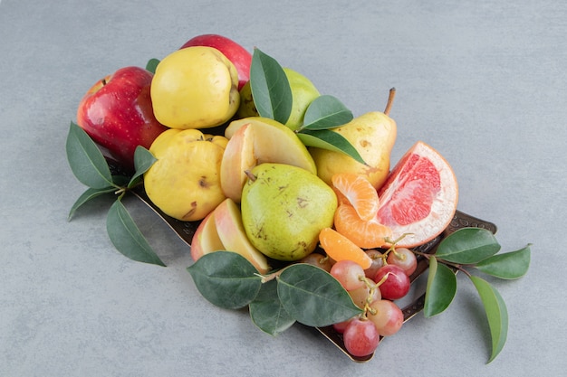
[[[327,269],[349,293],[354,304],[363,310],[360,316],[332,325],[342,335],[346,350],[356,357],[373,353],[380,344],[380,337],[398,333],[404,315],[394,300],[406,296],[409,276],[418,265],[415,254],[406,248],[365,252],[372,259],[369,269],[362,269],[348,259],[333,263],[317,254],[303,260]]]

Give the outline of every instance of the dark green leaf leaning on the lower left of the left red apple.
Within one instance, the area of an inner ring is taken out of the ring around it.
[[[93,189],[113,185],[111,169],[101,150],[91,137],[73,122],[67,135],[66,152],[72,174],[79,182]]]

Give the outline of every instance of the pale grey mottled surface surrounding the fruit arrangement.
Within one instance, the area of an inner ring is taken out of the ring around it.
[[[0,3],[0,375],[562,375],[567,216],[567,5],[562,1],[59,1]],[[64,144],[79,99],[106,74],[220,33],[301,71],[355,115],[391,115],[397,160],[417,140],[453,165],[459,209],[498,225],[532,266],[495,282],[507,344],[488,365],[474,288],[418,315],[352,363],[295,325],[273,338],[244,311],[211,306],[187,246],[126,202],[167,268],[126,259],[105,232],[109,202],[67,214],[85,189]]]

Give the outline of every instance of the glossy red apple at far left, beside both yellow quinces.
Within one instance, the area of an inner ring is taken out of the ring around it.
[[[97,81],[83,96],[77,124],[127,170],[134,169],[137,146],[149,149],[168,129],[154,117],[149,85],[153,74],[124,67]]]

